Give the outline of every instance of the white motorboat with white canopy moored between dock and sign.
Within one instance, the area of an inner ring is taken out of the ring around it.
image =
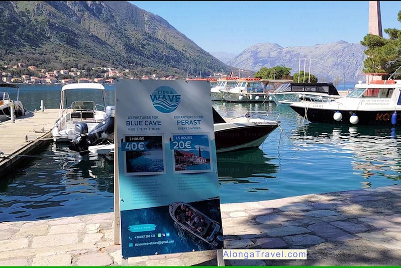
[[[106,89],[102,84],[66,84],[61,88],[59,119],[52,128],[53,140],[69,142],[78,136],[75,133],[77,123],[84,122],[88,133],[105,118]]]

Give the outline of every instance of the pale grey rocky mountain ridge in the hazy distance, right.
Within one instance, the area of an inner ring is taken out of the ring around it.
[[[338,80],[356,82],[364,80],[361,75],[365,47],[361,44],[338,41],[312,47],[286,47],[278,44],[259,43],[245,49],[226,62],[230,66],[258,71],[261,67],[285,66],[291,68],[291,75],[299,70],[309,72],[319,81]],[[300,67],[299,67],[299,58]],[[306,60],[305,60],[306,59]],[[310,64],[311,62],[311,64]]]

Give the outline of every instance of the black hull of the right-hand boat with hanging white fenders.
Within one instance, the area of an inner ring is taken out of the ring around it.
[[[290,105],[292,110],[312,123],[331,123],[331,124],[352,124],[350,117],[355,113],[358,116],[357,125],[393,125],[391,116],[394,110],[379,111],[349,111],[339,109],[319,109],[313,107],[302,107],[294,104]],[[334,119],[334,113],[339,111],[342,115],[340,121]],[[401,110],[397,112],[396,124],[401,124]]]

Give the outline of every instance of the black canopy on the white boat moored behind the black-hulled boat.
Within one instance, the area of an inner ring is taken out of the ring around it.
[[[332,83],[282,83],[275,91],[273,91],[273,94],[284,92],[316,92],[326,93],[329,95],[340,95],[337,88]]]

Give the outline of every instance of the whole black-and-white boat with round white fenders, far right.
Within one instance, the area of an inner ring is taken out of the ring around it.
[[[359,81],[346,97],[289,107],[312,123],[396,125],[401,120],[401,80]]]

